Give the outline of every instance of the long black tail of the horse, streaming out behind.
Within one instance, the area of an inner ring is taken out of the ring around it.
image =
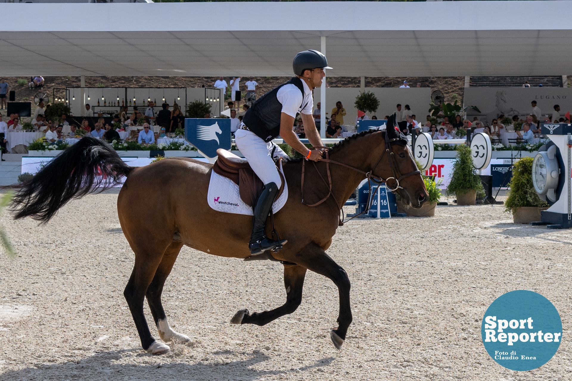
[[[67,201],[110,188],[132,169],[111,145],[84,137],[16,188],[14,219],[31,216],[45,224]]]

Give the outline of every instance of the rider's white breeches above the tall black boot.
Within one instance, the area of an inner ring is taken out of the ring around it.
[[[288,158],[288,155],[273,142],[265,143],[252,131],[238,129],[235,132],[236,148],[244,155],[251,165],[252,170],[260,177],[264,184],[274,182],[277,186],[282,184],[280,174],[276,169],[276,164],[272,160],[272,150],[274,156]]]

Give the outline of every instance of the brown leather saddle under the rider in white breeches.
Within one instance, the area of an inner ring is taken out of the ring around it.
[[[213,165],[213,171],[235,182],[235,184],[239,186],[240,198],[245,204],[254,208],[256,200],[258,200],[264,187],[263,182],[256,176],[256,173],[254,173],[245,158],[236,156],[234,153],[222,148],[217,149],[216,153],[219,157],[215,161],[215,165]],[[284,191],[284,184],[286,183],[284,175],[279,170],[281,159],[282,158],[279,157],[279,160],[276,162],[280,180],[282,180],[276,199],[278,199]]]

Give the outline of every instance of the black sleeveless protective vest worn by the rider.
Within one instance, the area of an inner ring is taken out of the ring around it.
[[[298,77],[293,77],[288,82],[284,82],[258,98],[244,114],[244,125],[265,142],[269,142],[280,135],[282,104],[278,101],[276,94],[282,86],[288,84],[295,85],[300,89],[302,102],[304,102],[304,85],[302,80]],[[300,107],[303,108],[302,105]]]

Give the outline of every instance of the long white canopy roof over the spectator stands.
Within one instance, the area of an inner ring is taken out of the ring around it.
[[[0,3],[0,75],[290,76],[321,36],[328,76],[561,75],[572,26],[555,17],[570,13],[569,0]]]

